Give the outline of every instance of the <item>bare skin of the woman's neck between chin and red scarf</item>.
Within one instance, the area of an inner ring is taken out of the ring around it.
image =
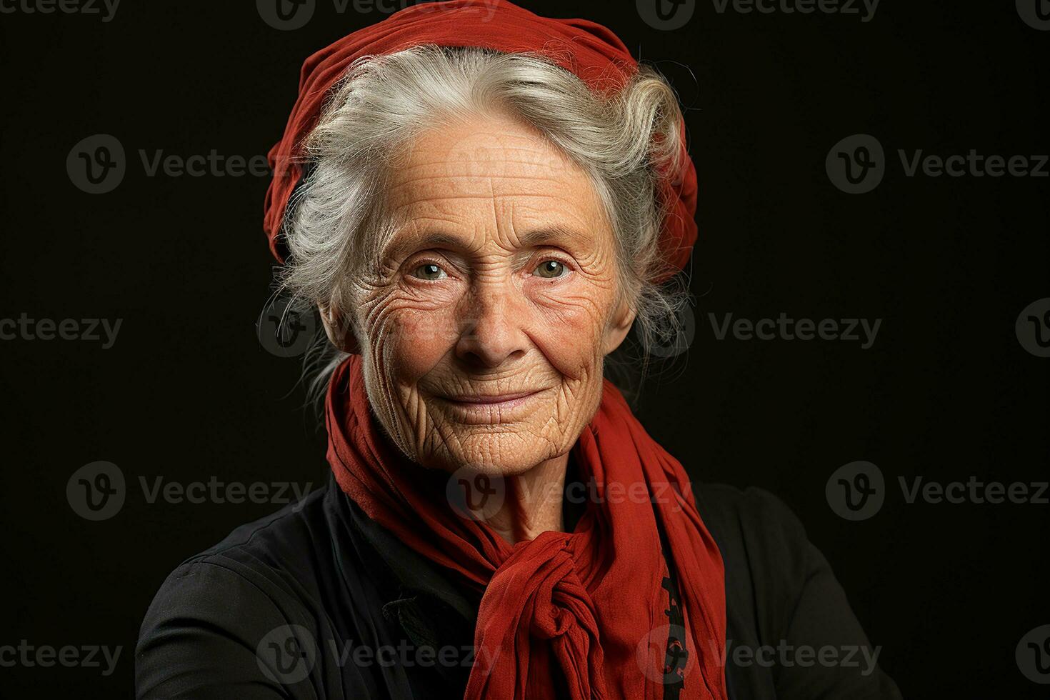
[[[548,530],[563,532],[562,507],[568,463],[566,452],[516,476],[504,476],[503,506],[485,522],[510,544],[533,539]]]

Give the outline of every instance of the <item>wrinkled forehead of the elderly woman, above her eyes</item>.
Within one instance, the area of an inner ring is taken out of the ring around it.
[[[487,243],[593,248],[607,228],[587,173],[509,121],[426,132],[392,173],[387,197],[400,222],[392,256]]]

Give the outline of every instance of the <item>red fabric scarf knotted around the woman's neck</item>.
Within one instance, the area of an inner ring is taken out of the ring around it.
[[[721,556],[681,465],[608,380],[571,452],[600,497],[588,499],[573,532],[548,531],[517,545],[457,514],[445,496],[449,474],[411,463],[382,433],[358,355],[333,377],[328,431],[328,459],[342,490],[415,551],[484,590],[468,700],[553,698],[555,669],[573,700],[664,697],[669,601],[657,518],[689,633],[678,697],[727,697]],[[635,489],[648,495],[627,497]]]

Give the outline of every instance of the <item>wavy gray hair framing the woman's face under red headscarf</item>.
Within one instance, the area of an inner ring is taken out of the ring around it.
[[[681,111],[667,80],[646,65],[623,89],[600,94],[529,54],[423,45],[358,59],[303,142],[308,174],[285,215],[280,292],[310,313],[318,304],[336,317],[354,309],[359,280],[375,274],[396,229],[383,194],[406,147],[425,130],[496,111],[531,124],[589,175],[615,234],[617,291],[636,314],[644,377],[652,351],[680,338],[690,301],[688,280],[672,275],[657,245],[667,215],[658,171],[681,165]],[[344,357],[319,334],[307,356],[311,394],[323,393]]]

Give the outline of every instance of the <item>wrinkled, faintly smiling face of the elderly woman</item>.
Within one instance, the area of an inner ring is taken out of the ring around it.
[[[613,307],[613,233],[587,175],[530,127],[479,116],[417,139],[387,196],[399,229],[353,310],[381,424],[449,471],[566,453],[634,318]]]

